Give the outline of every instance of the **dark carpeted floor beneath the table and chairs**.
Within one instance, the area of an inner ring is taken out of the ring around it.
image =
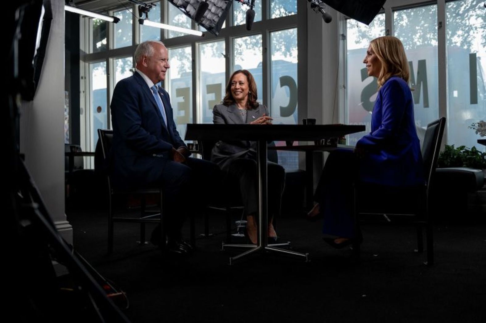
[[[412,227],[363,226],[362,261],[321,239],[320,224],[287,215],[280,241],[311,261],[275,254],[232,266],[221,250],[222,214],[210,217],[210,238],[197,239],[186,258],[140,246],[137,224],[116,224],[114,252],[106,256],[106,213],[67,211],[76,250],[127,293],[132,322],[486,322],[486,225],[470,221],[435,226],[434,266],[414,252]],[[197,219],[197,232],[203,220]],[[148,227],[150,233],[151,227]],[[184,227],[189,238],[189,224]]]

